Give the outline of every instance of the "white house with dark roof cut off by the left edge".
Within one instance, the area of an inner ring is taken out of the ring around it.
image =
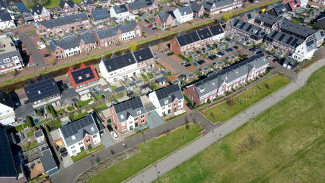
[[[15,123],[15,106],[12,103],[10,94],[0,90],[0,123],[2,125],[12,125]]]

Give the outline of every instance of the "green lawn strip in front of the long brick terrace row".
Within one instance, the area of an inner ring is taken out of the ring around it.
[[[290,79],[281,75],[276,74],[270,78],[267,78],[258,85],[253,86],[242,94],[228,99],[227,101],[220,103],[219,105],[213,105],[206,110],[203,110],[203,114],[213,122],[224,122],[230,117],[242,112],[242,110],[253,105],[260,99],[272,94],[277,89],[287,85]]]

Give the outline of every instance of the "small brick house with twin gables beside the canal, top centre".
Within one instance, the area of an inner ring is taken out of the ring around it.
[[[176,26],[176,17],[172,11],[170,12],[160,12],[155,17],[156,19],[156,26],[160,28],[170,28]]]

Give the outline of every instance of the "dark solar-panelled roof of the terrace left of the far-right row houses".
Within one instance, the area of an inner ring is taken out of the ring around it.
[[[266,32],[263,28],[255,26],[253,24],[249,24],[246,21],[242,21],[238,18],[230,19],[231,26],[238,30],[243,31],[250,35],[250,38],[253,40],[260,40],[266,35]]]

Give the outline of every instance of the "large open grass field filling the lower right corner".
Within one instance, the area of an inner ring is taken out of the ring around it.
[[[325,67],[156,182],[324,182]]]

